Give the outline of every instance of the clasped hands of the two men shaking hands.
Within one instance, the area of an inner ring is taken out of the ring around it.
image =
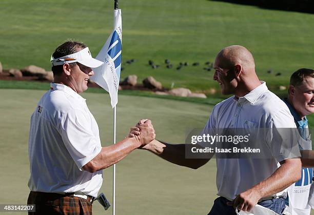
[[[135,127],[130,128],[126,138],[135,138],[141,143],[140,148],[146,146],[156,138],[155,130],[150,120],[140,120]]]

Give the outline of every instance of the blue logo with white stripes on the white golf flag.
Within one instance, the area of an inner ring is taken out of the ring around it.
[[[112,58],[115,68],[121,65],[121,47],[122,43],[119,34],[114,31],[111,37],[108,55]],[[120,70],[116,72],[120,79]]]

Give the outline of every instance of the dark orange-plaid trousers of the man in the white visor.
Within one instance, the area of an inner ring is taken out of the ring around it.
[[[85,200],[80,197],[74,197],[73,193],[58,194],[31,191],[27,204],[35,205],[35,212],[28,212],[29,215],[92,214],[92,202],[90,202],[90,198],[88,197]]]

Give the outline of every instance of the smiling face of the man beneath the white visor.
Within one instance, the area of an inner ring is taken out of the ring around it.
[[[88,80],[93,74],[94,72],[90,67],[76,63],[75,66],[71,67],[70,75],[68,76],[70,87],[77,93],[84,92],[87,90]]]

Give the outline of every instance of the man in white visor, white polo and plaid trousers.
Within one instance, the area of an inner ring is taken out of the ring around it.
[[[85,44],[68,41],[51,56],[54,82],[31,116],[29,132],[29,214],[91,214],[103,179],[102,169],[155,138],[149,120],[141,135],[102,147],[97,123],[85,99],[94,74],[103,62]]]

